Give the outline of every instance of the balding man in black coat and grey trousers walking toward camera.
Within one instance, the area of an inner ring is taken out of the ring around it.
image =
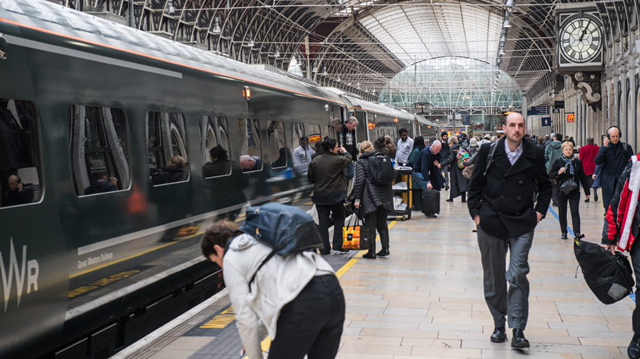
[[[525,129],[522,115],[507,117],[506,138],[480,149],[468,192],[469,213],[478,230],[484,297],[495,325],[491,341],[507,340],[508,314],[513,329],[511,347],[516,349],[529,347],[524,337],[529,314],[528,256],[534,229],[547,213],[552,189],[544,152],[523,141]],[[534,202],[536,189],[538,197]],[[505,273],[507,251],[511,256]]]

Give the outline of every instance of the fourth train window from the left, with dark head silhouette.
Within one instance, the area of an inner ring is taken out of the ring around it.
[[[202,116],[202,173],[205,178],[231,174],[229,124],[226,117]]]

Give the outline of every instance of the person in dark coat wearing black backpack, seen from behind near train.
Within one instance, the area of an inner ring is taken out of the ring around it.
[[[389,256],[389,226],[387,225],[387,213],[393,211],[393,192],[391,184],[374,185],[369,180],[371,170],[369,157],[379,154],[373,144],[364,141],[360,144],[360,159],[356,163],[356,183],[353,194],[356,199],[355,207],[364,217],[366,227],[371,231],[369,238],[375,238],[376,229],[380,233],[382,249],[376,254],[376,243],[372,241],[369,252],[363,258],[375,259]]]

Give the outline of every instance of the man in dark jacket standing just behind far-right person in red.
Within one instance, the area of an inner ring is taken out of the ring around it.
[[[629,159],[634,155],[633,148],[620,141],[622,133],[618,127],[610,127],[607,137],[604,138],[604,146],[596,156],[595,163],[600,166],[600,186],[602,187],[602,204],[606,212],[611,203],[611,198],[616,188],[624,183],[619,183],[620,175],[627,166]]]

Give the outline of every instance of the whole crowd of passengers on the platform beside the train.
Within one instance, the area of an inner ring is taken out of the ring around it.
[[[215,223],[203,237],[204,256],[223,267],[237,310],[237,327],[250,359],[262,358],[260,343],[266,333],[272,339],[271,359],[337,355],[345,300],[335,273],[324,258],[347,252],[341,248],[341,231],[334,231],[332,243],[328,232],[330,225],[338,229],[345,225],[345,203],[360,211],[365,224],[362,230],[372,231],[374,237],[376,231],[380,234],[382,249],[376,253],[373,248],[363,258],[390,255],[386,215],[393,210],[392,187],[371,183],[371,172],[365,163],[372,155],[391,156],[397,166],[412,168],[417,191],[414,198],[420,198],[419,191],[445,190],[450,191],[449,202],[457,197],[467,202],[476,225],[473,232],[477,232],[481,254],[484,297],[494,321],[491,342],[507,341],[508,324],[513,330],[511,347],[530,347],[524,330],[529,314],[528,256],[534,231],[553,202],[560,217],[560,238],[567,239],[570,207],[575,239],[581,239],[580,188],[585,192],[585,202],[591,200],[591,191],[594,201],[598,201],[597,190],[602,188],[606,212],[602,246],[612,253],[616,247],[630,251],[634,272],[640,271],[640,250],[632,247],[633,238],[640,234],[640,220],[636,219],[640,212],[627,210],[630,203],[639,199],[640,154],[634,155],[631,146],[620,140],[619,128],[609,128],[600,138],[600,146],[589,138],[577,148],[572,138],[561,134],[529,136],[519,114],[507,117],[501,138],[468,138],[443,132],[432,143],[421,136],[411,139],[408,131],[401,129],[396,143],[380,137],[373,143],[363,141],[356,145],[357,125],[353,117],[344,125],[338,120],[332,122],[337,139],[325,138],[316,147],[309,165],[308,177],[314,184],[313,202],[324,243],[320,253],[275,256],[277,259],[271,260],[265,274],[252,286],[255,268],[260,268],[271,249],[238,232],[237,224],[228,221]],[[636,183],[632,185],[635,187],[630,188],[630,183]],[[419,206],[419,202],[415,204]],[[620,224],[627,218],[633,225],[625,237],[620,233]],[[274,276],[279,280],[272,280]],[[636,334],[627,353],[630,358],[639,358],[638,309],[633,312],[633,329]]]

